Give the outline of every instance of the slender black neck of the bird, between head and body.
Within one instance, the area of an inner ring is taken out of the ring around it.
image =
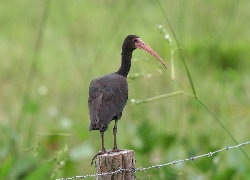
[[[130,71],[130,67],[131,67],[132,53],[133,53],[133,51],[123,48],[121,67],[116,72],[117,74],[122,75],[124,77],[127,77],[128,73]]]

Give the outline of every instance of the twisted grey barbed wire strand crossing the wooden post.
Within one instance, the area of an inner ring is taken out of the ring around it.
[[[165,164],[158,164],[158,165],[152,165],[149,167],[139,167],[139,168],[133,168],[133,169],[124,169],[124,168],[119,168],[116,171],[113,172],[107,172],[107,173],[101,173],[101,174],[88,174],[88,175],[79,175],[79,176],[74,176],[74,177],[69,177],[69,178],[61,178],[61,179],[56,179],[56,180],[71,180],[71,179],[85,179],[85,178],[90,178],[90,177],[98,177],[98,176],[106,176],[106,175],[113,175],[113,174],[117,174],[117,173],[121,173],[123,171],[129,171],[129,172],[139,172],[139,171],[147,171],[149,169],[159,169],[161,167],[165,167],[165,166],[170,166],[170,165],[175,165],[177,163],[182,163],[182,162],[186,162],[186,161],[194,161],[196,159],[199,158],[203,158],[203,157],[212,157],[214,154],[220,153],[222,151],[227,151],[227,150],[231,150],[231,149],[235,149],[235,148],[240,148],[242,146],[245,145],[249,145],[250,141],[244,142],[244,143],[240,143],[238,145],[235,146],[228,146],[228,147],[224,147],[222,149],[216,150],[216,151],[211,151],[209,153],[206,154],[202,154],[202,155],[198,155],[198,156],[193,156],[190,158],[186,158],[186,159],[180,159],[180,160],[174,160]]]

